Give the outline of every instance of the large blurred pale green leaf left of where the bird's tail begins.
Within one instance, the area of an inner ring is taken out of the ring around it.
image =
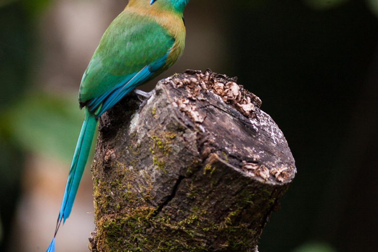
[[[30,94],[0,117],[0,132],[23,149],[69,162],[83,118],[76,95]]]

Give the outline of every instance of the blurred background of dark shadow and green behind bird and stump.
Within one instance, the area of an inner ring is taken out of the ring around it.
[[[77,92],[126,0],[0,0],[0,251],[44,252],[81,126]],[[237,76],[298,174],[260,252],[378,247],[378,0],[190,0],[185,69]],[[145,85],[151,90],[156,80]],[[88,251],[87,169],[57,251]]]

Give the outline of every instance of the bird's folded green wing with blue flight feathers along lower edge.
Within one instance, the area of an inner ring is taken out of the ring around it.
[[[80,103],[99,116],[160,73],[174,42],[152,18],[122,12],[102,36],[84,73]]]

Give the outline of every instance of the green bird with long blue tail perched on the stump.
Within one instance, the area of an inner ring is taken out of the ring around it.
[[[101,37],[79,88],[85,117],[64,189],[54,237],[69,217],[98,118],[126,94],[169,68],[184,51],[184,8],[189,0],[129,0]],[[144,94],[141,91],[136,92]],[[147,95],[148,96],[148,95]]]

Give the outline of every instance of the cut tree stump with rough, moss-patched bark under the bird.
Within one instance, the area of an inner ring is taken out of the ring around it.
[[[256,252],[296,173],[283,133],[236,78],[188,70],[100,118],[93,252]]]

